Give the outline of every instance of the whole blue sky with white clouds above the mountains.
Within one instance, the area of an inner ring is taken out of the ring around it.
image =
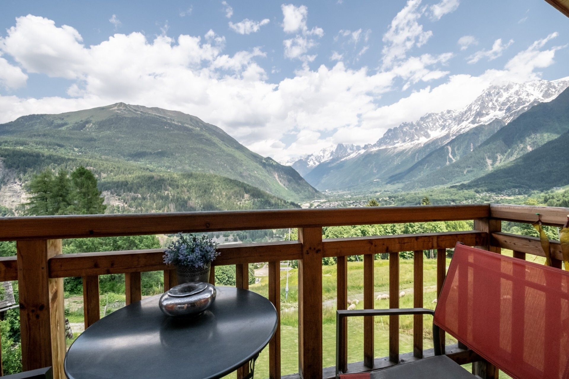
[[[543,0],[5,1],[0,24],[0,122],[123,101],[277,159],[569,76],[569,19]]]

